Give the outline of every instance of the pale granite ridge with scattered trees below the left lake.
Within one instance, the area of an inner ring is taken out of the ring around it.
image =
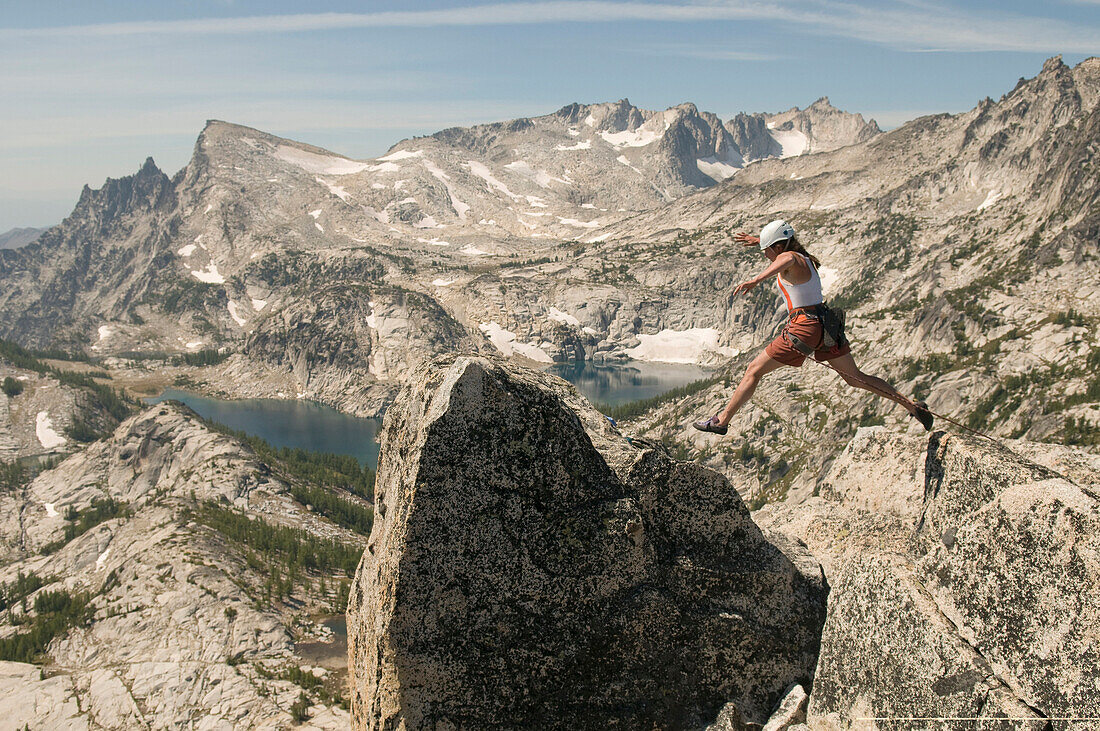
[[[110,498],[128,506],[52,552],[68,509]],[[258,602],[264,577],[239,546],[188,517],[196,501],[232,506],[318,540],[362,536],[295,502],[244,444],[189,409],[161,403],[124,421],[22,489],[0,495],[0,584],[19,573],[38,591],[88,592],[91,620],[55,638],[42,665],[0,663],[0,728],[277,729],[301,688],[278,675],[308,664],[298,610]],[[36,595],[29,597],[33,611]],[[301,599],[301,592],[296,592]],[[304,608],[301,608],[304,610]],[[25,631],[0,618],[0,636]],[[312,728],[348,726],[337,705]]]

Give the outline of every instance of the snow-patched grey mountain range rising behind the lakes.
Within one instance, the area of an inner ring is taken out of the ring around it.
[[[1052,436],[1094,416],[1072,389],[1091,392],[1076,368],[1100,317],[1098,97],[1100,60],[1053,58],[999,101],[888,133],[827,99],[726,122],[622,100],[371,160],[209,122],[174,177],[146,160],[0,253],[0,336],[96,355],[219,348],[222,392],[360,413],[454,350],[715,364],[754,352],[780,304],[768,288],[727,298],[760,267],[727,234],[782,217],[876,344],[868,367],[933,406],[988,409],[989,429]],[[1067,411],[1027,400],[1037,390],[990,401],[1025,373],[1046,374]],[[814,429],[850,428],[829,419]]]

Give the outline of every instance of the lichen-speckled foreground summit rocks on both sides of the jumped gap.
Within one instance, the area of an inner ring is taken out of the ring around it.
[[[386,420],[354,728],[1092,728],[1100,459],[1012,446],[864,430],[754,521],[553,377],[433,362]]]

